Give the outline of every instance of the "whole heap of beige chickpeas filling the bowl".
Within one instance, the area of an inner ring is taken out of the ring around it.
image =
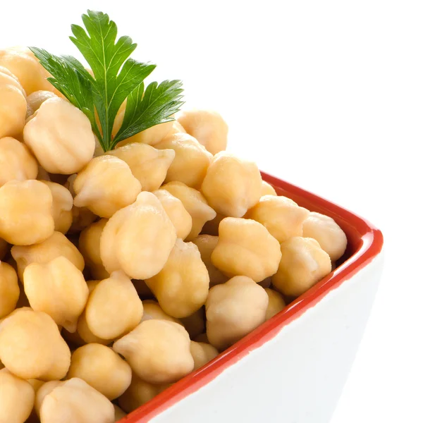
[[[111,423],[305,293],[347,238],[226,152],[219,114],[104,153],[48,76],[0,50],[0,422]]]

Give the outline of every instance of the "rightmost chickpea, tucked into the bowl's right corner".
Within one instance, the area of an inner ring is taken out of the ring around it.
[[[340,259],[347,248],[347,235],[331,217],[312,212],[302,226],[305,238],[314,238],[329,254],[331,262]]]

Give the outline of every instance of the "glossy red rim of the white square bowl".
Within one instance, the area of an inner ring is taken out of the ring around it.
[[[360,269],[381,252],[384,238],[371,223],[360,216],[339,207],[322,197],[298,188],[295,185],[275,178],[262,172],[263,180],[270,183],[278,195],[286,195],[306,207],[312,212],[319,212],[331,216],[339,226],[343,228],[348,238],[348,249],[345,256],[340,259],[340,264],[331,274],[323,278],[306,293],[264,322],[255,331],[235,343],[218,355],[214,360],[207,363],[180,381],[176,382],[165,391],[159,393],[149,402],[131,412],[128,416],[119,420],[121,423],[146,423],[178,401],[197,391],[202,386],[215,379],[225,369],[245,357],[250,351],[259,348],[264,343],[274,338],[281,329],[291,321],[298,319],[307,309],[313,307],[321,298],[324,298],[331,290],[338,288],[343,281],[348,280]]]

